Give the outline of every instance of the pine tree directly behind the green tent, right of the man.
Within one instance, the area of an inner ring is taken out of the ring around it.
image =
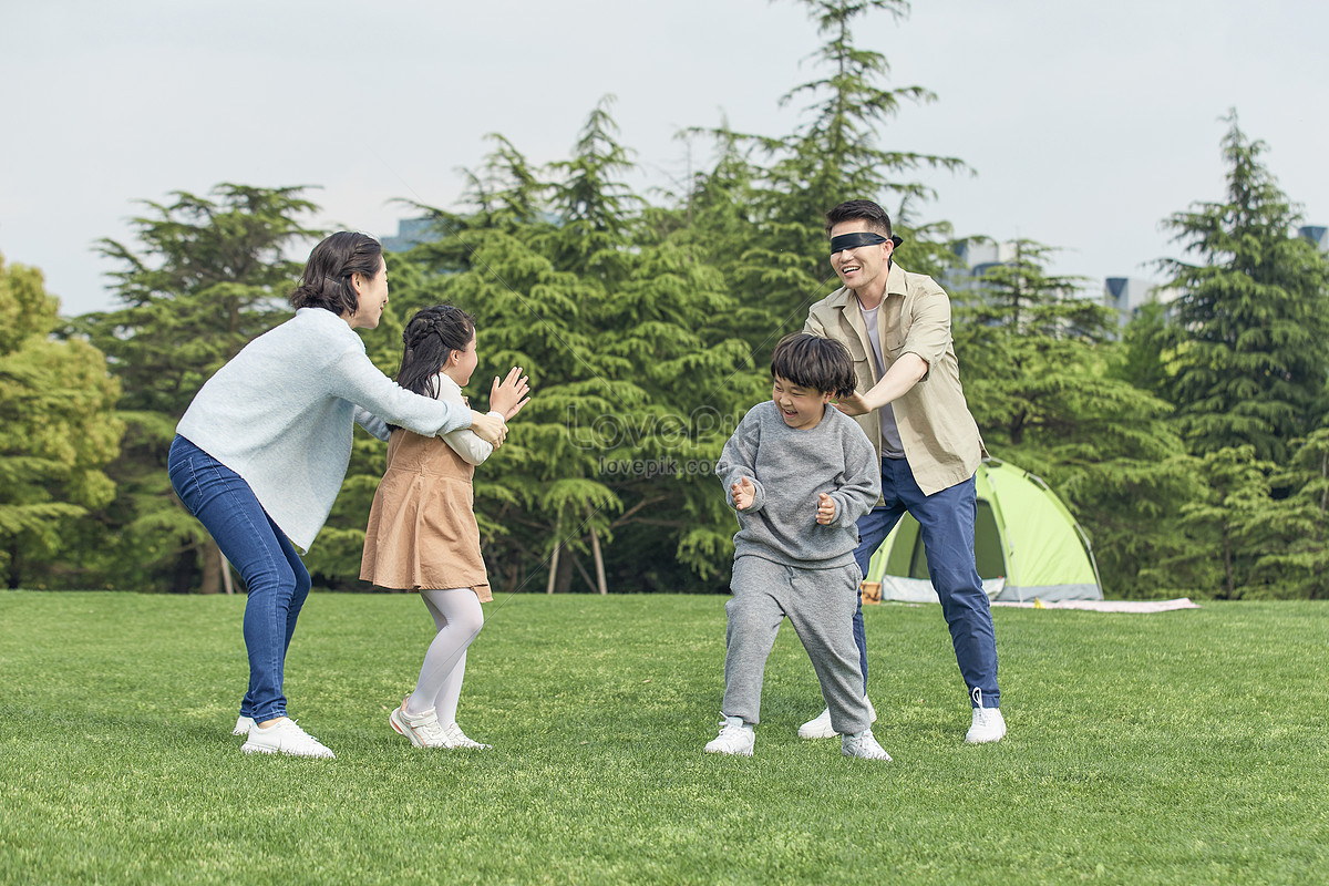
[[[1053,486],[1088,533],[1103,584],[1147,592],[1142,571],[1180,543],[1170,522],[1196,494],[1166,402],[1120,379],[1110,308],[1047,274],[1054,250],[1018,240],[958,310],[956,353],[987,450]]]

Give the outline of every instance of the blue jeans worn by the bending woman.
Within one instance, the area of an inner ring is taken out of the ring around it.
[[[286,716],[282,695],[286,650],[310,592],[310,573],[234,470],[179,436],[171,441],[166,469],[175,494],[213,535],[249,588],[245,647],[250,683],[241,715],[256,723]]]

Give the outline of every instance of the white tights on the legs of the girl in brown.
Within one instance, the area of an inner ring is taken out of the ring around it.
[[[469,587],[424,588],[420,598],[439,632],[424,655],[416,691],[407,699],[407,713],[424,713],[433,708],[439,723],[447,728],[457,721],[466,647],[484,627],[485,615],[480,598]]]

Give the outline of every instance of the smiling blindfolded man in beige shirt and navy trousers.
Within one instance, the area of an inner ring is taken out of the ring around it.
[[[808,311],[805,332],[849,348],[857,391],[840,399],[881,458],[881,501],[859,519],[855,559],[868,561],[905,514],[922,527],[932,584],[950,626],[973,720],[965,741],[1006,735],[997,688],[997,635],[987,595],[974,567],[974,472],[986,453],[960,387],[950,336],[950,299],[932,278],[896,264],[901,240],[890,218],[870,201],[827,213],[831,267],[844,286]],[[864,695],[868,647],[861,602],[853,616]],[[831,737],[828,712],[803,724],[805,739]]]

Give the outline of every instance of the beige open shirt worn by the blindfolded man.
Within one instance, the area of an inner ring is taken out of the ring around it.
[[[960,385],[960,364],[950,337],[950,298],[930,276],[909,274],[892,263],[877,324],[886,369],[905,353],[917,353],[928,363],[928,375],[892,404],[918,487],[932,495],[969,480],[987,453]],[[813,304],[804,332],[835,339],[849,348],[859,393],[877,384],[872,343],[852,291],[841,287]],[[856,420],[880,458],[877,413]]]

